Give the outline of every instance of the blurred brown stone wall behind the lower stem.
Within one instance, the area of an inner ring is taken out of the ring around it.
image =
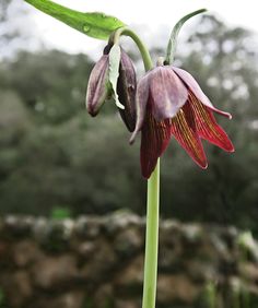
[[[0,218],[1,308],[141,307],[144,220]],[[258,245],[234,227],[162,221],[157,308],[258,307]]]

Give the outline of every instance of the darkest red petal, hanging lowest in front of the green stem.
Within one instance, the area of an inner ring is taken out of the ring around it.
[[[141,130],[141,170],[149,178],[171,140],[171,120],[156,121],[148,111]]]

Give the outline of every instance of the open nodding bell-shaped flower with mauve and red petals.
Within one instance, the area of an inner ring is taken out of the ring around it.
[[[141,169],[149,178],[172,135],[203,169],[208,167],[200,139],[234,152],[213,111],[232,118],[213,107],[197,81],[185,70],[159,66],[142,76],[137,90],[137,123],[132,143],[141,130]]]

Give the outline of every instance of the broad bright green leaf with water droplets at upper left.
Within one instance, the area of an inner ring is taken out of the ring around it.
[[[108,39],[110,34],[125,24],[104,13],[82,13],[49,0],[25,0],[39,11],[66,23],[67,25],[98,39]]]

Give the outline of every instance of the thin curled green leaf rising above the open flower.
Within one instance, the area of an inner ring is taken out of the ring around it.
[[[174,28],[172,31],[171,38],[168,40],[168,45],[167,45],[167,49],[166,49],[166,60],[165,60],[166,64],[171,64],[173,62],[173,60],[174,60],[174,54],[175,54],[176,44],[177,44],[177,36],[179,34],[179,31],[180,31],[181,26],[189,19],[191,19],[191,17],[194,17],[194,16],[196,16],[198,14],[204,13],[204,12],[207,12],[206,9],[201,9],[201,10],[195,11],[195,12],[192,12],[190,14],[187,14],[186,16],[184,16],[183,19],[180,19],[176,23],[176,25],[174,26]]]

